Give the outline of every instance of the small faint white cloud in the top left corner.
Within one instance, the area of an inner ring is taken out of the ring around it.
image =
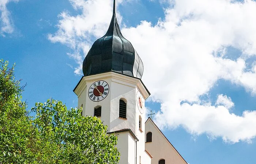
[[[1,13],[0,34],[3,36],[5,33],[10,34],[14,31],[14,27],[13,27],[14,25],[10,18],[10,11],[8,11],[6,7],[6,5],[11,1],[18,2],[19,0],[1,0],[0,1],[0,13]]]

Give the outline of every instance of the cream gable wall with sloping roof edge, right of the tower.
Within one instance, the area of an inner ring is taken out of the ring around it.
[[[146,150],[153,156],[151,164],[158,164],[160,159],[165,159],[166,164],[187,164],[150,119],[145,127],[145,134],[152,132],[152,142],[145,143]]]

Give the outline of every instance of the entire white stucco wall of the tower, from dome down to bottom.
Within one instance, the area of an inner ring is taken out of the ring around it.
[[[108,96],[99,102],[91,101],[88,95],[89,87],[96,81],[103,80],[109,85]],[[94,107],[101,106],[101,117],[103,124],[108,126],[109,132],[122,129],[131,129],[139,139],[137,142],[137,164],[141,156],[141,163],[147,164],[150,157],[145,153],[145,117],[144,113],[139,112],[136,103],[136,94],[140,91],[143,95],[143,102],[149,96],[146,88],[139,79],[128,77],[117,73],[103,73],[83,77],[75,89],[78,95],[78,106],[83,104],[83,116],[93,116]],[[119,118],[119,100],[124,98],[127,101],[127,119]],[[143,107],[144,107],[143,103]],[[139,130],[139,116],[141,116],[141,130]],[[136,144],[135,138],[129,132],[118,133],[117,148],[120,149],[120,164],[135,164]]]

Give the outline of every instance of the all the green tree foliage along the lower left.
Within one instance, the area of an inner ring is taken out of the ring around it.
[[[117,136],[96,117],[54,99],[36,103],[35,117],[22,102],[14,65],[0,60],[0,164],[116,164]]]

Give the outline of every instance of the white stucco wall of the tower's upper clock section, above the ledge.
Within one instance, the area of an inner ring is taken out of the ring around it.
[[[88,89],[98,80],[108,83],[109,94],[102,101],[94,102],[89,98]],[[127,128],[137,134],[139,132],[137,127],[139,127],[140,114],[136,104],[138,90],[145,98],[148,97],[148,93],[139,79],[110,72],[83,77],[78,87],[76,87],[75,93],[78,95],[78,106],[83,104],[83,116],[93,116],[94,107],[102,106],[100,119],[105,125],[108,125],[110,132]],[[120,98],[127,100],[127,119],[119,118]],[[144,122],[144,117],[142,122]]]

